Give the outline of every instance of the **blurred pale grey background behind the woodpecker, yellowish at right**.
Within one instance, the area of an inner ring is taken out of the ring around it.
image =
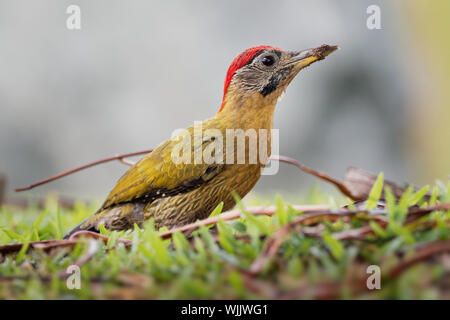
[[[81,8],[80,30],[66,27],[71,4]],[[372,4],[380,30],[366,26]],[[281,154],[336,177],[356,166],[399,183],[447,181],[449,13],[446,0],[2,0],[8,196],[90,161],[156,147],[213,116],[229,63],[260,44],[341,48],[302,71],[278,104]],[[126,170],[114,162],[26,194],[101,200]],[[289,197],[314,181],[281,165],[256,192]]]

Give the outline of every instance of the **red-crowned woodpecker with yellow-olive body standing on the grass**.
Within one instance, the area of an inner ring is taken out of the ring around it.
[[[270,132],[275,105],[292,79],[300,70],[337,49],[337,46],[321,45],[301,51],[271,46],[245,50],[228,69],[218,113],[201,123],[200,134],[195,126],[187,128],[187,136],[192,141],[200,139],[199,145],[204,150],[215,140],[205,134],[209,129],[218,130],[225,137],[227,129],[254,129],[257,134],[260,129]],[[270,134],[264,139],[270,156]],[[235,205],[233,192],[244,197],[265,166],[261,161],[248,161],[248,145],[244,163],[178,163],[173,159],[177,143],[176,139],[168,139],[134,164],[118,180],[98,211],[64,238],[79,230],[98,231],[100,224],[109,230],[131,229],[134,224],[142,226],[150,218],[154,219],[156,228],[170,229],[206,218],[221,202],[223,210],[229,210]],[[196,144],[193,145],[188,156],[196,152]],[[226,149],[224,153],[235,151]]]

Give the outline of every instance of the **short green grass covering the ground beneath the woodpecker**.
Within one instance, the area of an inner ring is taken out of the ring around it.
[[[380,175],[370,193],[369,208],[376,206],[382,182]],[[424,196],[429,190],[431,197],[426,200]],[[319,237],[303,232],[304,229],[293,229],[256,275],[248,270],[265,252],[271,237],[303,214],[293,210],[279,195],[272,201],[260,200],[263,205],[272,202],[276,206],[273,216],[252,215],[237,199],[237,207],[243,210],[241,218],[220,221],[214,228],[203,226],[191,237],[177,232],[171,239],[163,240],[159,236],[161,230],[155,230],[152,221],[142,229],[136,227],[126,232],[102,228],[109,240],[106,244],[95,240],[98,250],[81,266],[81,289],[72,290],[60,274],[86,255],[89,241],[80,241],[73,250],[62,248],[49,253],[27,251],[27,244],[61,239],[66,231],[94,212],[97,205],[77,203],[67,210],[49,198],[44,209],[33,205],[26,209],[3,207],[0,245],[19,242],[25,245],[14,255],[0,254],[0,299],[307,299],[316,297],[317,288],[323,286],[336,286],[337,298],[448,298],[445,288],[450,275],[448,256],[446,263],[443,262],[446,256],[436,255],[393,279],[386,277],[386,273],[421,245],[449,239],[449,211],[434,211],[416,224],[404,223],[411,205],[426,207],[450,202],[450,184],[438,183],[418,192],[410,188],[399,200],[386,188],[385,198],[386,228],[375,220],[368,221],[367,215],[358,214],[336,221],[319,221],[315,226],[321,228]],[[317,188],[299,199],[302,200],[295,204],[349,203]],[[256,204],[255,200],[250,202]],[[212,216],[220,212],[221,206]],[[365,239],[338,240],[334,236],[369,224],[375,235]],[[126,248],[118,241],[121,237],[132,240],[132,245]],[[360,286],[369,276],[366,267],[372,264],[381,268],[381,290],[355,290],[355,285]]]

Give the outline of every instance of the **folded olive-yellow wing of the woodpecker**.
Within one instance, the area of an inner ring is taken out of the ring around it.
[[[114,189],[106,198],[101,210],[135,200],[152,201],[159,197],[169,196],[188,191],[212,179],[223,169],[223,164],[212,163],[185,163],[177,159],[174,154],[183,156],[194,154],[195,148],[202,148],[212,143],[208,137],[194,137],[192,127],[185,131],[191,137],[189,149],[183,149],[181,136],[169,139],[160,144],[153,152],[133,165],[117,182]],[[200,143],[194,143],[201,139]],[[186,142],[185,140],[183,140]],[[175,149],[175,150],[174,150]],[[173,153],[173,151],[177,153]],[[193,157],[191,158],[193,162]]]

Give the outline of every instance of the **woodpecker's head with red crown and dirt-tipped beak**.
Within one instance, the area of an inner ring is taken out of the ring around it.
[[[284,51],[271,46],[245,50],[228,68],[219,112],[228,102],[242,98],[258,101],[258,104],[275,104],[300,70],[337,49],[337,46],[324,44],[301,51]]]

